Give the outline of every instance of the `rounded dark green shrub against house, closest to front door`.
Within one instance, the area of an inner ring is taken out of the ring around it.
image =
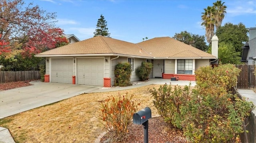
[[[136,69],[136,75],[139,76],[140,80],[145,81],[149,79],[149,74],[153,67],[152,63],[142,62],[141,66]]]

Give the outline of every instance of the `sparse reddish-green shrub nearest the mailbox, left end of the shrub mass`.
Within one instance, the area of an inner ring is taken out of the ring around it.
[[[184,116],[188,109],[186,104],[190,100],[190,86],[174,86],[164,84],[158,90],[150,89],[153,96],[154,107],[164,118],[164,121],[172,123],[175,127],[182,129],[184,127]]]

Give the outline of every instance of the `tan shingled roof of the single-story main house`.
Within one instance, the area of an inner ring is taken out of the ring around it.
[[[146,58],[196,58],[216,59],[211,54],[170,37],[158,37],[137,44],[96,36],[70,45],[65,45],[43,53],[36,57],[63,56],[135,56]]]

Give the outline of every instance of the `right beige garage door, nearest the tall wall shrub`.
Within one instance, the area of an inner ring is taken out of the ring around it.
[[[78,58],[77,84],[103,86],[104,58]]]

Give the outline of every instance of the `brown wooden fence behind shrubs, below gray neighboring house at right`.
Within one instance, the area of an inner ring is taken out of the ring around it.
[[[256,76],[254,75],[255,65],[236,65],[238,69],[241,69],[238,76],[238,82],[236,84],[237,89],[255,89],[256,88]]]

